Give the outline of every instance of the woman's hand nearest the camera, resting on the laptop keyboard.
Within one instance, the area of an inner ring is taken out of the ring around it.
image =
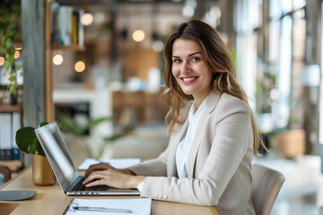
[[[109,185],[121,189],[136,188],[145,176],[131,176],[116,169],[105,169],[105,170],[92,170],[91,173],[85,177],[83,185]]]

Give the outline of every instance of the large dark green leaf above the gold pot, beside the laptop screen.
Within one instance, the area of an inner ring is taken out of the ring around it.
[[[28,154],[39,154],[46,157],[33,127],[22,127],[16,133],[16,143],[20,150]]]

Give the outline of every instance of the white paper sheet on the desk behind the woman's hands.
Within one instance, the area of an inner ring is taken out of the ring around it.
[[[78,167],[78,170],[86,170],[93,164],[100,162],[109,163],[114,168],[128,168],[140,163],[140,159],[85,159]]]

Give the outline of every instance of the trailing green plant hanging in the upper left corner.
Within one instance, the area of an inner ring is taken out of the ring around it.
[[[11,95],[11,104],[17,103],[17,71],[22,68],[14,61],[15,39],[21,36],[19,22],[21,21],[21,1],[4,0],[0,4],[0,54],[4,55],[4,75],[9,77],[8,89]]]

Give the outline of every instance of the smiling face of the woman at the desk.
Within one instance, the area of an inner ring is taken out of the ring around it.
[[[176,39],[172,46],[172,74],[181,90],[192,95],[199,107],[211,90],[213,73],[194,40]]]

